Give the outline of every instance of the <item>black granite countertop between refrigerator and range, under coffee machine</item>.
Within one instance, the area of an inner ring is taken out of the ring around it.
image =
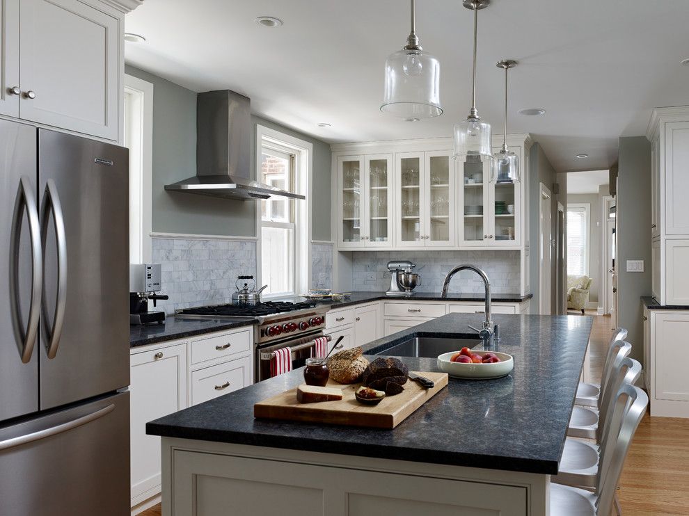
[[[129,347],[145,346],[156,342],[172,339],[184,339],[192,335],[203,333],[219,332],[239,326],[253,325],[258,323],[251,317],[241,317],[237,319],[177,319],[168,315],[165,324],[151,324],[144,326],[130,326]]]

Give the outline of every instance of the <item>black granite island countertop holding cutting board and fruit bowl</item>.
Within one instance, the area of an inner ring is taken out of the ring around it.
[[[303,371],[271,378],[146,425],[152,435],[344,453],[438,464],[557,472],[592,326],[588,316],[496,314],[499,349],[514,371],[497,380],[455,380],[394,430],[254,419],[253,405],[303,382]],[[378,339],[374,354],[414,336],[459,337],[479,314],[449,314]],[[404,358],[437,371],[435,359]]]

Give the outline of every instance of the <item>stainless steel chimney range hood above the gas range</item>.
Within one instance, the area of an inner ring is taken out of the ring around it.
[[[196,175],[166,184],[168,191],[255,200],[306,199],[251,179],[251,101],[230,90],[196,99]]]

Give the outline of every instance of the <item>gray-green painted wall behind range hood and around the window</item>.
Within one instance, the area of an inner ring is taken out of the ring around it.
[[[196,92],[125,65],[125,73],[153,84],[154,232],[255,236],[258,203],[166,192],[164,185],[196,174]],[[251,170],[255,170],[255,124],[283,131],[313,144],[312,238],[329,241],[331,151],[321,140],[252,116]]]

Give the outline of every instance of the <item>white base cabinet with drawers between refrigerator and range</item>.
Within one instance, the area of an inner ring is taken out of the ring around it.
[[[132,348],[132,514],[159,501],[160,437],[146,423],[253,383],[253,326]]]

